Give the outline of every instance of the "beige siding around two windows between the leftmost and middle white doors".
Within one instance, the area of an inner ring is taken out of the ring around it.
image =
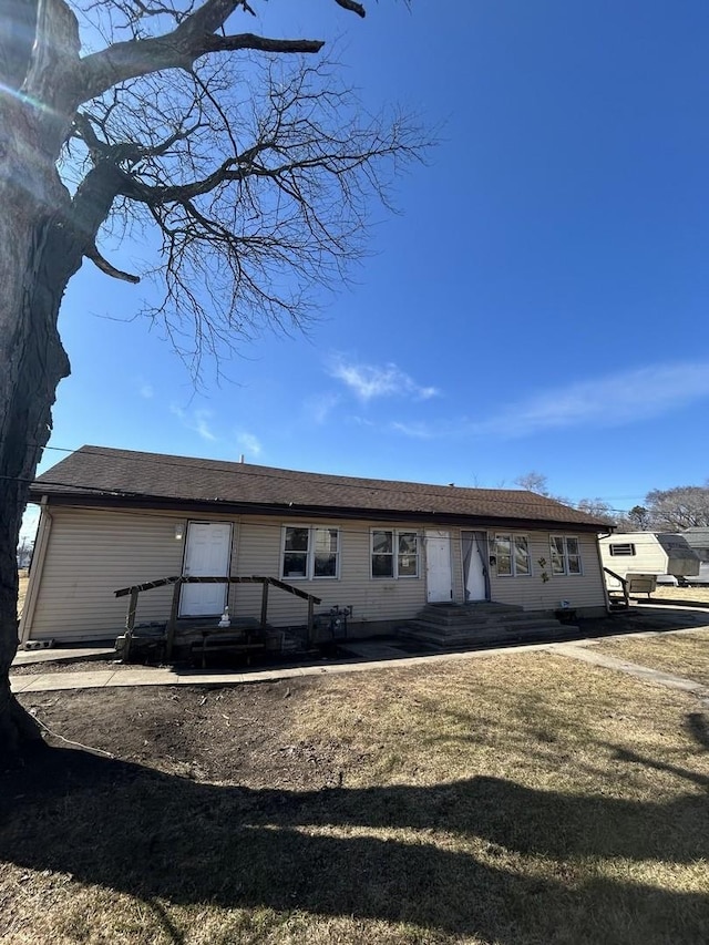
[[[372,578],[370,568],[370,531],[372,527],[415,531],[423,530],[418,524],[392,526],[376,522],[350,522],[327,518],[321,521],[276,518],[244,518],[239,530],[236,553],[236,571],[239,576],[281,574],[281,528],[284,525],[339,528],[339,577],[290,581],[307,594],[320,597],[322,603],[316,606],[316,613],[322,613],[335,606],[351,606],[352,620],[372,623],[376,620],[399,620],[411,618],[425,604],[425,557],[421,540],[419,557],[419,577],[387,579]],[[260,614],[260,588],[249,585],[236,585],[230,592],[230,610],[237,617],[258,616]],[[274,626],[305,624],[308,616],[306,600],[290,594],[269,589],[268,622]]]

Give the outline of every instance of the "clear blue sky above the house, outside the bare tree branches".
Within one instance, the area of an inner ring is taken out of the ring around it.
[[[364,102],[440,144],[309,335],[265,336],[204,392],[134,318],[150,286],[84,266],[50,445],[477,486],[536,470],[618,509],[703,483],[706,0],[255,6],[239,29],[337,40]]]

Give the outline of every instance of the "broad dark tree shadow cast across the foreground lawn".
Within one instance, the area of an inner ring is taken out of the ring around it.
[[[644,803],[493,778],[251,790],[50,749],[0,777],[0,818],[1,859],[148,904],[407,922],[503,945],[703,942],[709,928],[707,896],[644,885],[631,866],[610,880],[580,864],[709,856],[701,794]],[[520,856],[555,862],[523,873]]]

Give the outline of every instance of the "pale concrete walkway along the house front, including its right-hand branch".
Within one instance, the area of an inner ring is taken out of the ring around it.
[[[533,653],[543,650],[554,653],[558,656],[565,656],[571,659],[578,659],[584,662],[589,662],[595,666],[603,666],[606,669],[615,669],[620,672],[628,674],[638,679],[645,679],[649,682],[656,682],[661,686],[667,686],[671,689],[678,689],[685,692],[692,692],[697,697],[709,701],[709,689],[695,682],[691,679],[686,679],[681,676],[674,676],[668,672],[661,672],[656,669],[650,669],[647,666],[629,662],[625,659],[618,659],[614,656],[595,651],[594,647],[598,643],[613,639],[625,639],[628,636],[633,639],[643,639],[646,637],[656,636],[675,636],[681,634],[696,634],[698,629],[705,629],[709,633],[709,626],[688,627],[681,630],[649,630],[646,633],[635,633],[631,635],[618,634],[596,639],[576,640],[573,643],[542,643],[542,644],[522,644],[520,646],[496,647],[492,649],[471,650],[467,653],[445,653],[434,654],[430,656],[410,656],[392,658],[392,647],[384,641],[381,643],[379,649],[377,641],[368,644],[369,659],[362,660],[346,660],[330,661],[322,660],[321,662],[310,666],[285,666],[275,669],[254,669],[243,671],[220,671],[220,670],[182,670],[177,671],[171,668],[162,667],[145,667],[132,668],[120,666],[116,664],[115,669],[97,669],[97,670],[79,670],[76,672],[56,672],[47,671],[33,675],[10,675],[10,685],[13,692],[55,692],[64,689],[105,689],[126,686],[242,686],[249,682],[275,682],[280,679],[294,679],[298,677],[312,676],[329,676],[342,672],[364,672],[376,669],[394,669],[407,666],[424,666],[439,662],[456,662],[469,659],[484,659],[489,656],[504,656],[516,653]],[[109,658],[113,655],[112,649],[75,649],[75,650],[31,650],[18,654],[13,665],[28,665],[38,662],[68,662],[72,660],[84,660],[90,658]],[[381,658],[376,658],[377,655]]]

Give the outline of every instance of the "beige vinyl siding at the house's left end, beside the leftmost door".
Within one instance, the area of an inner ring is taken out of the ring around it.
[[[100,639],[123,631],[127,597],[120,587],[181,574],[184,538],[175,525],[187,521],[235,521],[224,516],[187,516],[151,511],[51,509],[52,530],[39,581],[31,626],[24,639]],[[233,530],[233,542],[238,528]],[[185,528],[186,534],[186,528]],[[234,556],[234,554],[233,554]],[[138,597],[136,622],[166,620],[172,588]]]

